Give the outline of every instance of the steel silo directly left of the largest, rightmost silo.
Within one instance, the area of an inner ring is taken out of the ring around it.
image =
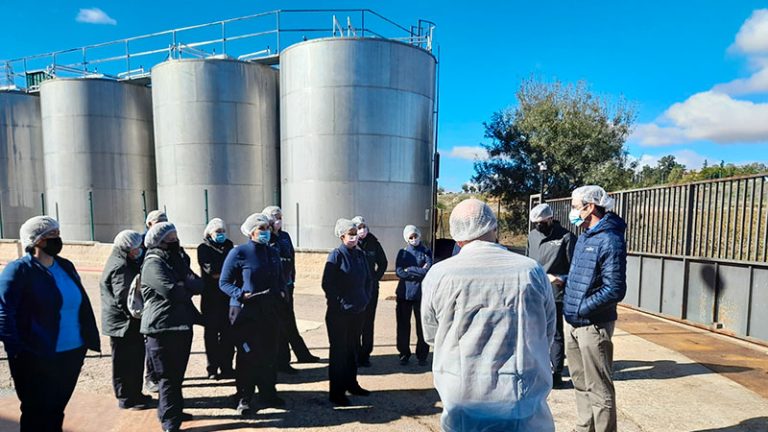
[[[279,199],[277,81],[269,66],[229,59],[152,69],[158,202],[183,243],[202,239],[206,214],[242,242],[243,220]]]

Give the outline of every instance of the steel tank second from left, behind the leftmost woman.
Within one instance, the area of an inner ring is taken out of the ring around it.
[[[142,231],[145,208],[157,204],[151,91],[58,78],[43,82],[40,97],[46,212],[62,236],[111,242],[121,230]]]

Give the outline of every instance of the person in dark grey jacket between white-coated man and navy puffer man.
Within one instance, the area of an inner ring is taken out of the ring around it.
[[[563,336],[563,292],[568,270],[571,268],[576,236],[554,220],[549,204],[539,204],[531,209],[530,220],[535,228],[528,234],[528,257],[538,262],[552,284],[557,310],[555,340],[549,348],[552,361],[552,387],[563,386],[565,339]]]

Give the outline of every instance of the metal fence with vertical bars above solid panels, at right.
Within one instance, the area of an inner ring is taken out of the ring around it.
[[[627,223],[625,303],[768,342],[768,174],[611,195]],[[580,232],[570,198],[546,202]]]

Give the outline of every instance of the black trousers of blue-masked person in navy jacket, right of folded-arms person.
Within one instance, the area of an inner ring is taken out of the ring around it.
[[[282,300],[260,296],[243,306],[234,323],[237,341],[235,380],[240,399],[249,401],[256,388],[259,398],[277,394],[277,343],[280,322],[276,309]]]

